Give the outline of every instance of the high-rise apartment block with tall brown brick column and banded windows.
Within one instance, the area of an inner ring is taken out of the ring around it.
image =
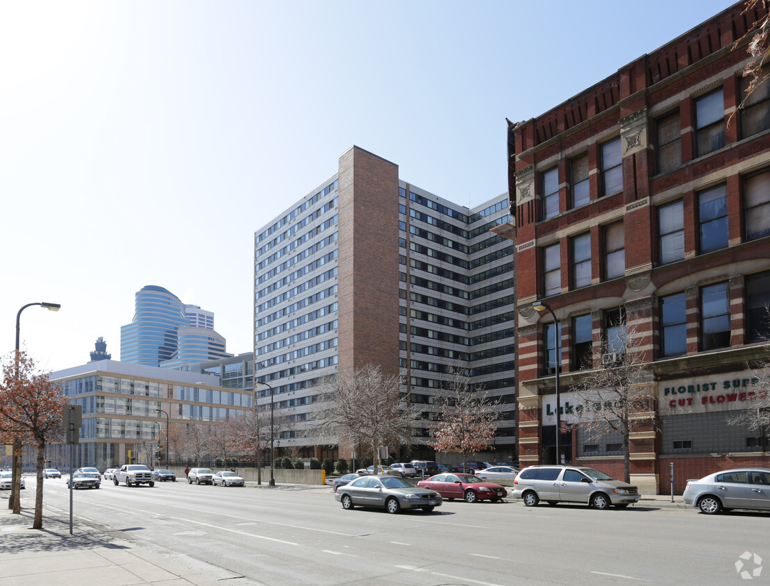
[[[434,400],[460,367],[501,400],[497,459],[514,456],[513,249],[492,231],[507,214],[507,194],[467,209],[354,146],[333,176],[256,231],[254,380],[274,394],[255,390],[290,420],[281,447],[350,457],[336,438],[313,435],[314,404],[324,377],[373,363],[400,373],[425,410],[401,450],[433,455],[424,440]]]

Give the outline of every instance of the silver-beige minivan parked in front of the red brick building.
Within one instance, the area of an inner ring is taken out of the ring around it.
[[[527,507],[546,501],[588,504],[601,510],[610,505],[628,507],[639,501],[639,491],[631,484],[616,481],[594,468],[564,465],[524,468],[516,476],[512,494]]]

